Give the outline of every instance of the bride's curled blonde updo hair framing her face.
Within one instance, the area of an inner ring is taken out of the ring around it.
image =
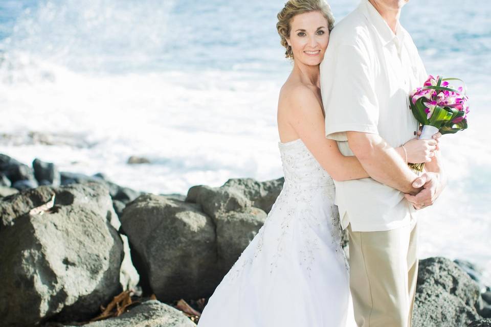
[[[286,58],[293,59],[292,47],[286,42],[286,39],[290,36],[293,17],[311,11],[319,11],[327,19],[327,28],[330,32],[334,27],[334,16],[331,8],[324,0],[288,0],[285,7],[278,13],[276,29],[281,38],[280,43],[286,49]]]

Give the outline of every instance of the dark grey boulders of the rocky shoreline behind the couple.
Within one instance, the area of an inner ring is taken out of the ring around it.
[[[0,154],[2,325],[195,326],[282,185],[230,179],[155,195]],[[477,267],[445,258],[419,267],[414,327],[491,326]]]

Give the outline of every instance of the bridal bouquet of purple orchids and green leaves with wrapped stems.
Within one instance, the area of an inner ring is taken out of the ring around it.
[[[448,81],[460,81],[463,87],[455,88],[449,85]],[[416,120],[423,125],[419,138],[429,139],[438,131],[449,134],[466,129],[468,99],[465,84],[461,79],[430,75],[425,84],[409,96],[411,111]],[[420,172],[425,163],[409,166]]]

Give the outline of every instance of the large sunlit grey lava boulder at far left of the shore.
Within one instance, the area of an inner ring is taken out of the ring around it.
[[[0,199],[2,325],[84,320],[117,295],[124,252],[113,216],[98,183]]]

